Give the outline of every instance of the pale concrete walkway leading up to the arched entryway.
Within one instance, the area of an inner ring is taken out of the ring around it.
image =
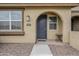
[[[35,44],[30,56],[52,56],[48,44]]]

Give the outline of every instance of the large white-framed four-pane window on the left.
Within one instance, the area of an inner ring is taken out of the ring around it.
[[[0,31],[22,31],[22,10],[0,10]]]

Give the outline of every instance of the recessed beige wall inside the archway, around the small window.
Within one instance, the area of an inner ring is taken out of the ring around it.
[[[48,17],[49,16],[56,16],[57,17],[57,25],[56,25],[56,29],[49,29],[49,21],[50,19],[47,18],[47,38],[48,40],[56,40],[57,39],[57,34],[62,34],[62,20],[58,17],[58,15],[54,15],[53,13],[50,15],[48,14]]]

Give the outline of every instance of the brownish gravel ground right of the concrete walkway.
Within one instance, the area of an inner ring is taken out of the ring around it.
[[[54,56],[79,56],[79,51],[69,45],[49,44],[49,47]]]

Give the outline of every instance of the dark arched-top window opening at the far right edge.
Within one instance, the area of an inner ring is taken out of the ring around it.
[[[79,17],[78,16],[72,17],[71,30],[72,31],[79,31]]]

